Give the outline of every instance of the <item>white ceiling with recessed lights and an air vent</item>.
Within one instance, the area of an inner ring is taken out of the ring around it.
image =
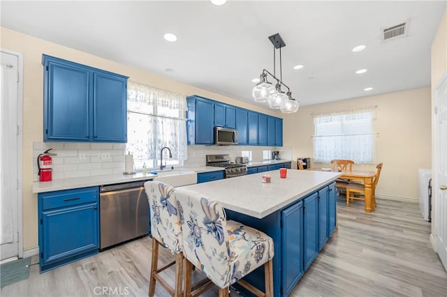
[[[1,26],[251,103],[280,33],[283,82],[303,106],[430,86],[445,11],[446,1],[2,1]],[[406,37],[382,40],[402,22]]]

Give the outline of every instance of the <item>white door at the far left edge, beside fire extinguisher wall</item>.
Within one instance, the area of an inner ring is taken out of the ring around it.
[[[1,104],[0,104],[0,200],[1,260],[17,257],[18,238],[18,71],[17,55],[1,52]]]

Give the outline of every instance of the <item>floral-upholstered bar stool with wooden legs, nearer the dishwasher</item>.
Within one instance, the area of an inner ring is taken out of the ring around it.
[[[155,282],[170,292],[172,296],[182,296],[183,271],[183,236],[180,226],[180,215],[177,209],[174,188],[158,181],[145,182],[147,201],[149,202],[151,234],[152,234],[152,264],[149,282],[149,296],[154,296]],[[157,268],[159,259],[159,244],[176,254],[175,261]],[[175,289],[170,287],[158,273],[175,264]]]

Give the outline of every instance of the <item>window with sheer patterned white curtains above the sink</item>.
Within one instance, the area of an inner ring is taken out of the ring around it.
[[[163,146],[173,154],[169,158],[168,151],[163,151],[167,167],[183,166],[188,155],[185,97],[135,82],[129,82],[127,90],[126,150],[133,154],[135,169],[143,163],[148,169],[160,167]]]

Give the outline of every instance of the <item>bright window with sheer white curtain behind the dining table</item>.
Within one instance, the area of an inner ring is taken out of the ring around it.
[[[348,159],[360,164],[374,163],[374,119],[374,107],[315,115],[314,162]]]

